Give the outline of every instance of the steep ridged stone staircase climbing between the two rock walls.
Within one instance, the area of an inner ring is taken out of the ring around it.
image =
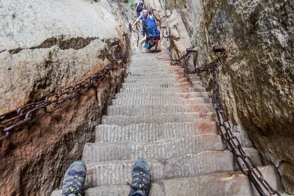
[[[161,52],[137,51],[120,93],[96,127],[95,143],[84,147],[86,196],[127,196],[137,158],[151,169],[149,196],[258,195],[222,142],[211,98],[198,76],[170,66]],[[275,168],[235,133],[273,189],[282,190]]]

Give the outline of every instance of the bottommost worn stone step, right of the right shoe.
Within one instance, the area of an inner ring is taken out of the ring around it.
[[[279,175],[273,166],[263,166],[259,170],[274,190],[283,190]],[[163,196],[259,196],[242,172],[175,178],[164,180],[162,183],[165,190]],[[268,194],[265,189],[264,191]]]

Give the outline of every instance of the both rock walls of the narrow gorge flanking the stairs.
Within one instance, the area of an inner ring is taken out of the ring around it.
[[[173,58],[196,48],[191,70],[217,57],[214,45],[227,47],[219,74],[226,116],[234,132],[251,138],[248,146],[256,147],[263,164],[277,168],[285,191],[294,194],[294,2],[145,3],[157,18],[165,16],[159,25],[179,37],[169,41]],[[60,93],[102,70],[117,53],[116,46],[107,46],[114,38],[125,49],[122,34],[136,20],[132,8],[117,0],[1,1],[0,114]],[[138,38],[138,31],[132,31],[133,52]],[[119,60],[85,95],[11,131],[0,144],[0,195],[50,195],[60,188],[64,172],[97,138],[95,127],[119,92],[129,62]],[[211,94],[210,73],[199,76]]]

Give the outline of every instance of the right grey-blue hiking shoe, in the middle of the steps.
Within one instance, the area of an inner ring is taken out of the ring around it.
[[[132,184],[127,183],[130,187],[128,196],[147,196],[150,188],[150,168],[147,161],[139,158],[134,163],[132,169]]]

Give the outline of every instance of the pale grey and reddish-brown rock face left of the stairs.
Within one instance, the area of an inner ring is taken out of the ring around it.
[[[103,69],[116,54],[113,38],[135,18],[116,1],[1,1],[0,114],[60,93]],[[133,35],[136,36],[136,35]],[[1,144],[0,195],[49,195],[94,141],[108,100],[120,89],[125,60],[82,95]]]

